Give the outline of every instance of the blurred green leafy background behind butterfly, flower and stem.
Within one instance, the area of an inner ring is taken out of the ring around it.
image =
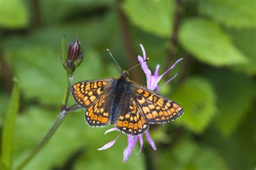
[[[12,166],[58,115],[66,76],[59,56],[68,33],[66,51],[76,36],[85,50],[74,82],[118,76],[106,48],[123,69],[138,63],[139,44],[152,72],[160,64],[163,73],[183,57],[160,82],[178,73],[160,94],[177,101],[185,114],[165,126],[152,125],[157,151],[145,140],[143,152],[135,154],[137,144],[123,163],[126,137],[97,151],[119,132],[104,135],[111,125],[90,128],[84,110],[73,112],[24,169],[254,169],[255,6],[254,0],[0,0],[1,129],[12,77],[21,89]],[[140,67],[130,74],[146,84]]]

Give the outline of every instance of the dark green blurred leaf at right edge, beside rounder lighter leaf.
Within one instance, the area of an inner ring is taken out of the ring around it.
[[[224,137],[228,137],[252,107],[255,95],[253,83],[248,77],[238,73],[212,70],[205,74],[218,95],[215,128]]]

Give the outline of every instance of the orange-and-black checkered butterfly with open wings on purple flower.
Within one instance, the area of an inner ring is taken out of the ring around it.
[[[131,81],[127,70],[117,78],[75,83],[71,93],[86,109],[85,121],[90,126],[110,123],[132,136],[144,133],[150,124],[171,122],[184,112],[176,102]]]

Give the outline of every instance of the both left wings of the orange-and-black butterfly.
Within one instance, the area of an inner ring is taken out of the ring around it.
[[[107,88],[113,78],[87,80],[73,84],[71,93],[80,107],[86,108],[85,121],[90,126],[105,126],[109,122],[106,110]]]

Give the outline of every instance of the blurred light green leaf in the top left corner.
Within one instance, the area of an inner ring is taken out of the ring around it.
[[[21,29],[29,24],[29,12],[24,1],[0,0],[0,27]]]

